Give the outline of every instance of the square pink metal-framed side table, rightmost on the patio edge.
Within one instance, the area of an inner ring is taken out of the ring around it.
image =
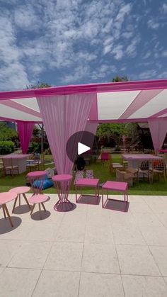
[[[124,193],[124,202],[128,203],[128,195],[127,195],[127,183],[123,181],[106,181],[102,186],[102,208],[105,208],[108,202],[108,190],[110,191],[121,191]],[[103,191],[107,190],[107,200],[103,201]],[[115,208],[113,208],[115,209]]]

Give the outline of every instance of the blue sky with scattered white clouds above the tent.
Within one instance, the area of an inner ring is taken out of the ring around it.
[[[0,90],[167,78],[166,0],[0,0]]]

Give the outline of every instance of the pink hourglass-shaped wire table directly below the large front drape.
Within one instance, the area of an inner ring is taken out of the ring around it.
[[[57,174],[52,176],[52,180],[59,196],[59,200],[54,205],[54,211],[71,211],[74,209],[74,204],[68,199],[72,176],[70,174]]]

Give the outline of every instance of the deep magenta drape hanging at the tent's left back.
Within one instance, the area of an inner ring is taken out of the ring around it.
[[[33,134],[34,123],[18,122],[18,136],[21,142],[21,150],[23,154],[28,152],[28,145]]]

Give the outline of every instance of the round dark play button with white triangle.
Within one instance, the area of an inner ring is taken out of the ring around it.
[[[75,162],[77,155],[91,158],[92,155],[98,155],[94,149],[96,136],[88,131],[79,131],[71,135],[66,145],[67,156],[72,162]]]

